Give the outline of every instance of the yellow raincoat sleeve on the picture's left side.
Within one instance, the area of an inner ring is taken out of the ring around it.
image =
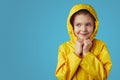
[[[58,64],[56,69],[56,77],[58,80],[71,80],[75,74],[81,59],[69,52],[66,55],[66,47],[60,46],[58,50]]]

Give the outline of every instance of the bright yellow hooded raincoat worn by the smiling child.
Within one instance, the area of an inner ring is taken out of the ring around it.
[[[95,17],[96,22],[94,32],[90,36],[92,48],[85,57],[80,58],[74,53],[77,38],[70,24],[70,18],[81,9],[88,10]],[[105,43],[95,39],[98,30],[98,18],[95,10],[88,4],[76,4],[68,16],[67,28],[70,41],[61,44],[58,50],[56,68],[58,80],[107,80],[112,62]]]

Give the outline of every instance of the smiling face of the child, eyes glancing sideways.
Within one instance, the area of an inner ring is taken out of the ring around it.
[[[79,14],[74,18],[73,27],[77,38],[89,39],[94,31],[94,20],[89,15]]]

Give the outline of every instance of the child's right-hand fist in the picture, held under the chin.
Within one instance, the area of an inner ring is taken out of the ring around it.
[[[92,41],[90,39],[84,40],[84,45],[83,45],[83,56],[87,54],[87,52],[90,50],[92,46]]]

